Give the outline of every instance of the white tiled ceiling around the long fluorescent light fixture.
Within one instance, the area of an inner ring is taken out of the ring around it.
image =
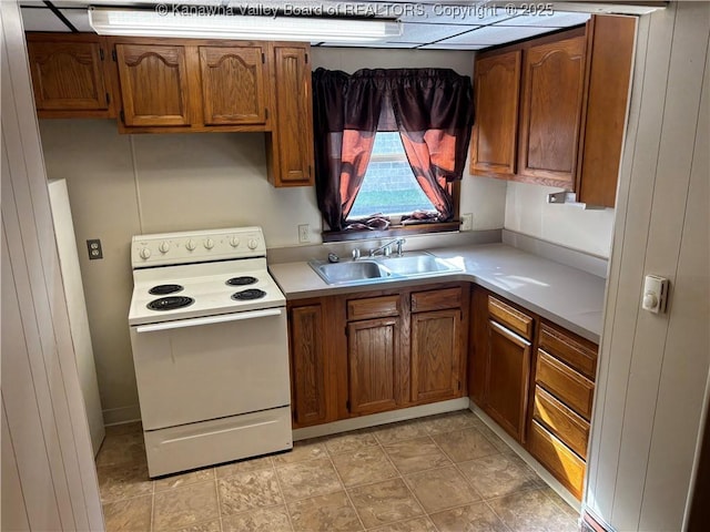
[[[590,12],[626,12],[640,14],[662,7],[665,2],[554,2],[551,9],[530,13],[521,2],[449,0],[436,2],[404,1],[244,1],[244,0],[74,0],[20,1],[27,31],[93,31],[87,14],[89,6],[133,7],[155,9],[161,4],[181,4],[187,9],[201,6],[216,9],[223,14],[264,14],[255,12],[267,8],[281,9],[284,16],[295,12],[311,16],[342,18],[397,19],[403,34],[387,42],[328,43],[314,41],[320,47],[405,48],[418,50],[483,50],[507,42],[549,33],[584,24]],[[528,3],[528,6],[530,6]],[[538,4],[540,6],[540,4]],[[547,4],[549,6],[549,4]],[[586,11],[586,12],[585,12]],[[214,11],[212,11],[214,12]],[[266,13],[267,14],[267,13]]]

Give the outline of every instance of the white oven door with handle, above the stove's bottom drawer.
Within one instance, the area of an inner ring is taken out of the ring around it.
[[[143,430],[287,406],[285,308],[131,327]]]

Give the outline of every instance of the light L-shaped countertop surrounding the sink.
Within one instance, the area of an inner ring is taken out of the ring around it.
[[[271,264],[288,300],[395,286],[469,280],[594,342],[601,335],[606,279],[506,244],[433,249],[464,272],[359,286],[327,285],[305,262]]]

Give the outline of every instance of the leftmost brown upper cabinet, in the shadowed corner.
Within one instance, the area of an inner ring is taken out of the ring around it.
[[[114,117],[108,44],[95,34],[29,33],[28,53],[40,119]]]

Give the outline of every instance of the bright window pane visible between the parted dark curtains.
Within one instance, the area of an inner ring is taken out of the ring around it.
[[[377,213],[398,217],[414,211],[435,213],[436,207],[414,177],[399,133],[379,131],[348,221]]]

